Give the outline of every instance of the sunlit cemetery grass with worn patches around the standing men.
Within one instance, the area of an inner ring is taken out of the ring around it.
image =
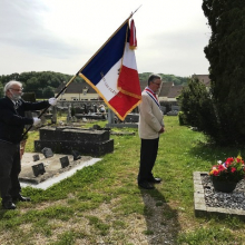
[[[165,117],[165,124],[154,168],[163,183],[156,189],[137,186],[137,129],[114,129],[135,135],[111,136],[114,153],[96,165],[47,190],[26,187],[31,203],[0,209],[0,244],[245,244],[243,222],[196,218],[193,199],[193,171],[207,171],[238,151],[244,156],[244,149],[212,146],[177,117]],[[35,139],[38,133],[29,133],[27,151],[33,151]]]

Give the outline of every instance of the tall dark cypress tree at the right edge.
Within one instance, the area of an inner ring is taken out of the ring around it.
[[[217,141],[245,144],[245,2],[203,0],[212,29],[204,52],[219,122]]]

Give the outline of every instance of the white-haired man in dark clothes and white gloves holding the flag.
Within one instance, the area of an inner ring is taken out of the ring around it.
[[[0,99],[0,192],[2,207],[16,209],[14,202],[29,202],[29,197],[21,196],[19,183],[20,141],[24,125],[37,126],[40,119],[24,117],[24,111],[41,110],[55,106],[56,98],[40,102],[27,102],[21,99],[22,84],[9,81],[4,86],[4,98]]]

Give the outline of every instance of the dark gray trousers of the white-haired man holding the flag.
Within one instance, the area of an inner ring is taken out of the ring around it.
[[[0,141],[0,192],[2,203],[20,194],[20,145]]]

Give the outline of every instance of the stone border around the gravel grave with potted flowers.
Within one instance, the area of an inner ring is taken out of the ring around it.
[[[207,174],[208,174],[207,171],[194,171],[193,173],[195,216],[204,217],[208,215],[217,215],[220,218],[225,218],[227,216],[235,216],[235,217],[238,217],[245,220],[245,210],[226,209],[226,208],[220,208],[220,207],[206,206],[202,176],[207,175]]]

